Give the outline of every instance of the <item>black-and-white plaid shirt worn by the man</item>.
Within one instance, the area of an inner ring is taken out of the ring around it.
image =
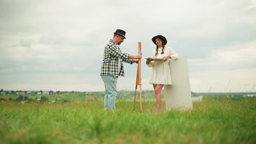
[[[121,52],[119,46],[110,39],[104,50],[104,57],[101,65],[100,75],[113,75],[115,77],[124,76],[123,62],[132,64],[132,60],[128,59],[129,56],[130,55],[128,53]],[[118,71],[119,58],[121,61],[120,71]]]

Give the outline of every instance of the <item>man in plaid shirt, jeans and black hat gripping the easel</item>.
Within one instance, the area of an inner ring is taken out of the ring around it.
[[[132,56],[120,50],[118,45],[123,43],[124,39],[125,31],[117,29],[104,50],[101,65],[101,78],[105,85],[104,110],[115,110],[117,79],[118,76],[124,76],[123,62],[132,64],[141,59],[141,55]]]

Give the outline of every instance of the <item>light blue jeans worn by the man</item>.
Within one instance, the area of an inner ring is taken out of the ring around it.
[[[115,110],[117,98],[117,79],[113,75],[101,75],[105,85],[104,110]]]

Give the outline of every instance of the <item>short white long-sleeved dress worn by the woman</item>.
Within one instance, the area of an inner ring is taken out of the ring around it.
[[[162,48],[158,48],[158,55],[155,56],[156,49],[153,50],[153,57],[162,58],[165,56],[171,56],[172,59],[179,57],[178,53],[171,49],[171,47],[165,46],[164,53],[161,54]],[[172,85],[171,70],[168,63],[171,61],[170,58],[167,61],[151,61],[148,67],[152,67],[152,71],[149,78],[149,83],[151,84],[161,84],[161,85]]]

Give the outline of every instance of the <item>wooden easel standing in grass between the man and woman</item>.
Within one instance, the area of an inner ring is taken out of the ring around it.
[[[141,42],[138,42],[138,54],[142,55],[142,53],[141,53]],[[141,102],[141,59],[138,59],[138,69],[137,69],[137,79],[136,79],[133,110],[135,110],[136,93],[137,93],[137,86],[138,85],[139,85],[139,108],[142,111],[142,102]]]

